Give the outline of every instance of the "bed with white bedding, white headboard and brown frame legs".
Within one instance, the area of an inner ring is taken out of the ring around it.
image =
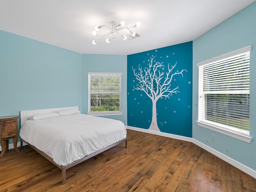
[[[121,121],[80,114],[78,106],[20,111],[20,138],[62,170],[66,170],[122,142]]]

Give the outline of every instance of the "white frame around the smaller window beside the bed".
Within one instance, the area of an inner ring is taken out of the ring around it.
[[[121,111],[121,94],[122,94],[122,72],[88,72],[88,115],[92,116],[112,116],[112,115],[122,115]],[[90,106],[90,75],[102,75],[102,76],[120,76],[120,97],[119,97],[119,111],[91,111]]]

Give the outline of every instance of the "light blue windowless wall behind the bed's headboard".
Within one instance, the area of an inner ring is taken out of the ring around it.
[[[0,116],[79,106],[82,54],[0,30]]]

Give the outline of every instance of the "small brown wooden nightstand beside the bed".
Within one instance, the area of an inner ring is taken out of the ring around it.
[[[19,116],[3,116],[0,117],[0,144],[2,152],[0,158],[9,149],[9,139],[13,140],[14,150],[19,152],[17,148],[18,141],[18,118]]]

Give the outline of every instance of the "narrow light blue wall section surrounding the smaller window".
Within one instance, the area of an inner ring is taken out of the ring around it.
[[[127,125],[127,56],[82,54],[82,108],[83,113],[88,113],[88,74],[87,72],[122,72],[121,84],[121,110],[122,115],[102,116],[117,119]]]

